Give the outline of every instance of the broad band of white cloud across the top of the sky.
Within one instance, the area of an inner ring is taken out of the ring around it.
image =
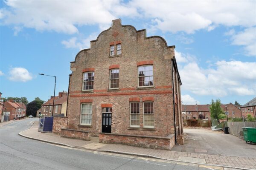
[[[162,31],[211,31],[219,25],[251,27],[256,25],[256,1],[4,1],[1,23],[38,31],[67,34],[79,32],[78,26],[98,24],[105,29],[118,17],[149,19],[149,28]]]

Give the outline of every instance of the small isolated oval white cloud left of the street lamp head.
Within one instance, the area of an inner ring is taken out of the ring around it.
[[[8,79],[14,82],[27,82],[32,80],[32,74],[26,68],[15,67],[10,69]]]

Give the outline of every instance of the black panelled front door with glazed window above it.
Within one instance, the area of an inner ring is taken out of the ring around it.
[[[111,133],[112,108],[102,108],[102,133]]]

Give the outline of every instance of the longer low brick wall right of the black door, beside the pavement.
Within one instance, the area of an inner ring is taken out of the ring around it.
[[[171,150],[175,145],[175,136],[142,136],[116,133],[99,133],[100,143],[126,144],[137,147]]]

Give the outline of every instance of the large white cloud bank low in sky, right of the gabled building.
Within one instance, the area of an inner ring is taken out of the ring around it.
[[[180,69],[182,88],[197,95],[255,95],[256,62],[218,61],[203,69],[190,62]]]

